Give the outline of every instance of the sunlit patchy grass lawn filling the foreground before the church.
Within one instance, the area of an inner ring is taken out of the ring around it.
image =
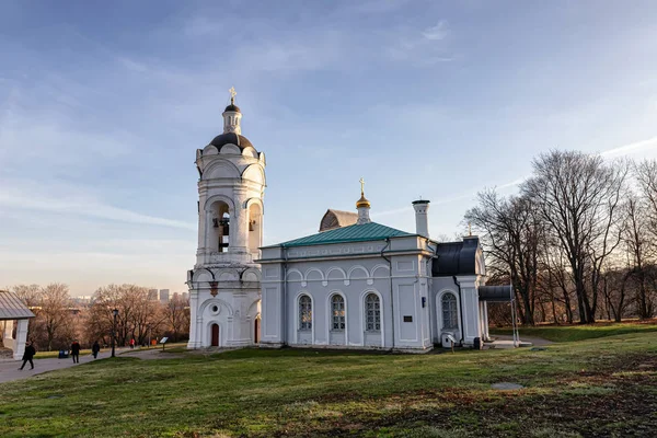
[[[648,437],[657,336],[533,351],[119,356],[5,383],[0,394],[1,437]]]

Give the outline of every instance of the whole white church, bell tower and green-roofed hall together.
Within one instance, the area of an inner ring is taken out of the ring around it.
[[[327,210],[316,234],[262,247],[265,157],[223,112],[223,134],[196,152],[198,251],[188,272],[189,348],[312,346],[427,351],[488,338],[487,287],[476,237],[438,243],[428,200],[416,230],[372,222],[362,181],[357,211]]]

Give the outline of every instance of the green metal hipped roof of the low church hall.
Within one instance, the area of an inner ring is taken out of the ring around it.
[[[362,224],[354,224],[348,227],[337,228],[331,231],[307,235],[306,238],[290,240],[272,246],[308,246],[323,245],[326,243],[345,243],[345,242],[364,242],[370,240],[383,240],[388,238],[397,238],[402,235],[413,235],[405,231],[395,230],[394,228],[382,226],[377,222]]]

